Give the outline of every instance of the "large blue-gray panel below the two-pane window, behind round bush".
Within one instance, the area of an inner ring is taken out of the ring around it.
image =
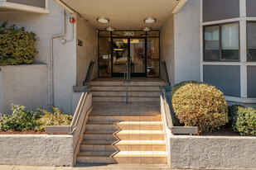
[[[214,85],[225,96],[240,97],[240,66],[204,65],[204,82]]]

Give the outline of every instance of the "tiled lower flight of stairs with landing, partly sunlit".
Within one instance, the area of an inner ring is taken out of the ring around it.
[[[159,102],[94,102],[93,106],[78,163],[167,163]]]

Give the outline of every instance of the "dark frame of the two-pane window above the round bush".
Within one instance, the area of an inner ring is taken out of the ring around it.
[[[239,26],[239,59],[222,59],[222,26],[227,24],[238,24]],[[207,26],[219,26],[219,50],[220,50],[220,56],[218,60],[214,59],[205,59],[205,27]],[[205,25],[203,26],[203,61],[204,62],[240,62],[240,23],[239,21],[231,21],[231,22],[225,22],[225,23],[218,23],[213,25]]]

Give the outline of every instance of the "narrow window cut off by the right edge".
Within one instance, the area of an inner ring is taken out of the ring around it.
[[[256,61],[256,22],[247,23],[247,61]]]

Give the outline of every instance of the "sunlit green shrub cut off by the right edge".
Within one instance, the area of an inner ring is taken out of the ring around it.
[[[240,135],[256,135],[256,111],[251,107],[239,107],[235,129]]]

